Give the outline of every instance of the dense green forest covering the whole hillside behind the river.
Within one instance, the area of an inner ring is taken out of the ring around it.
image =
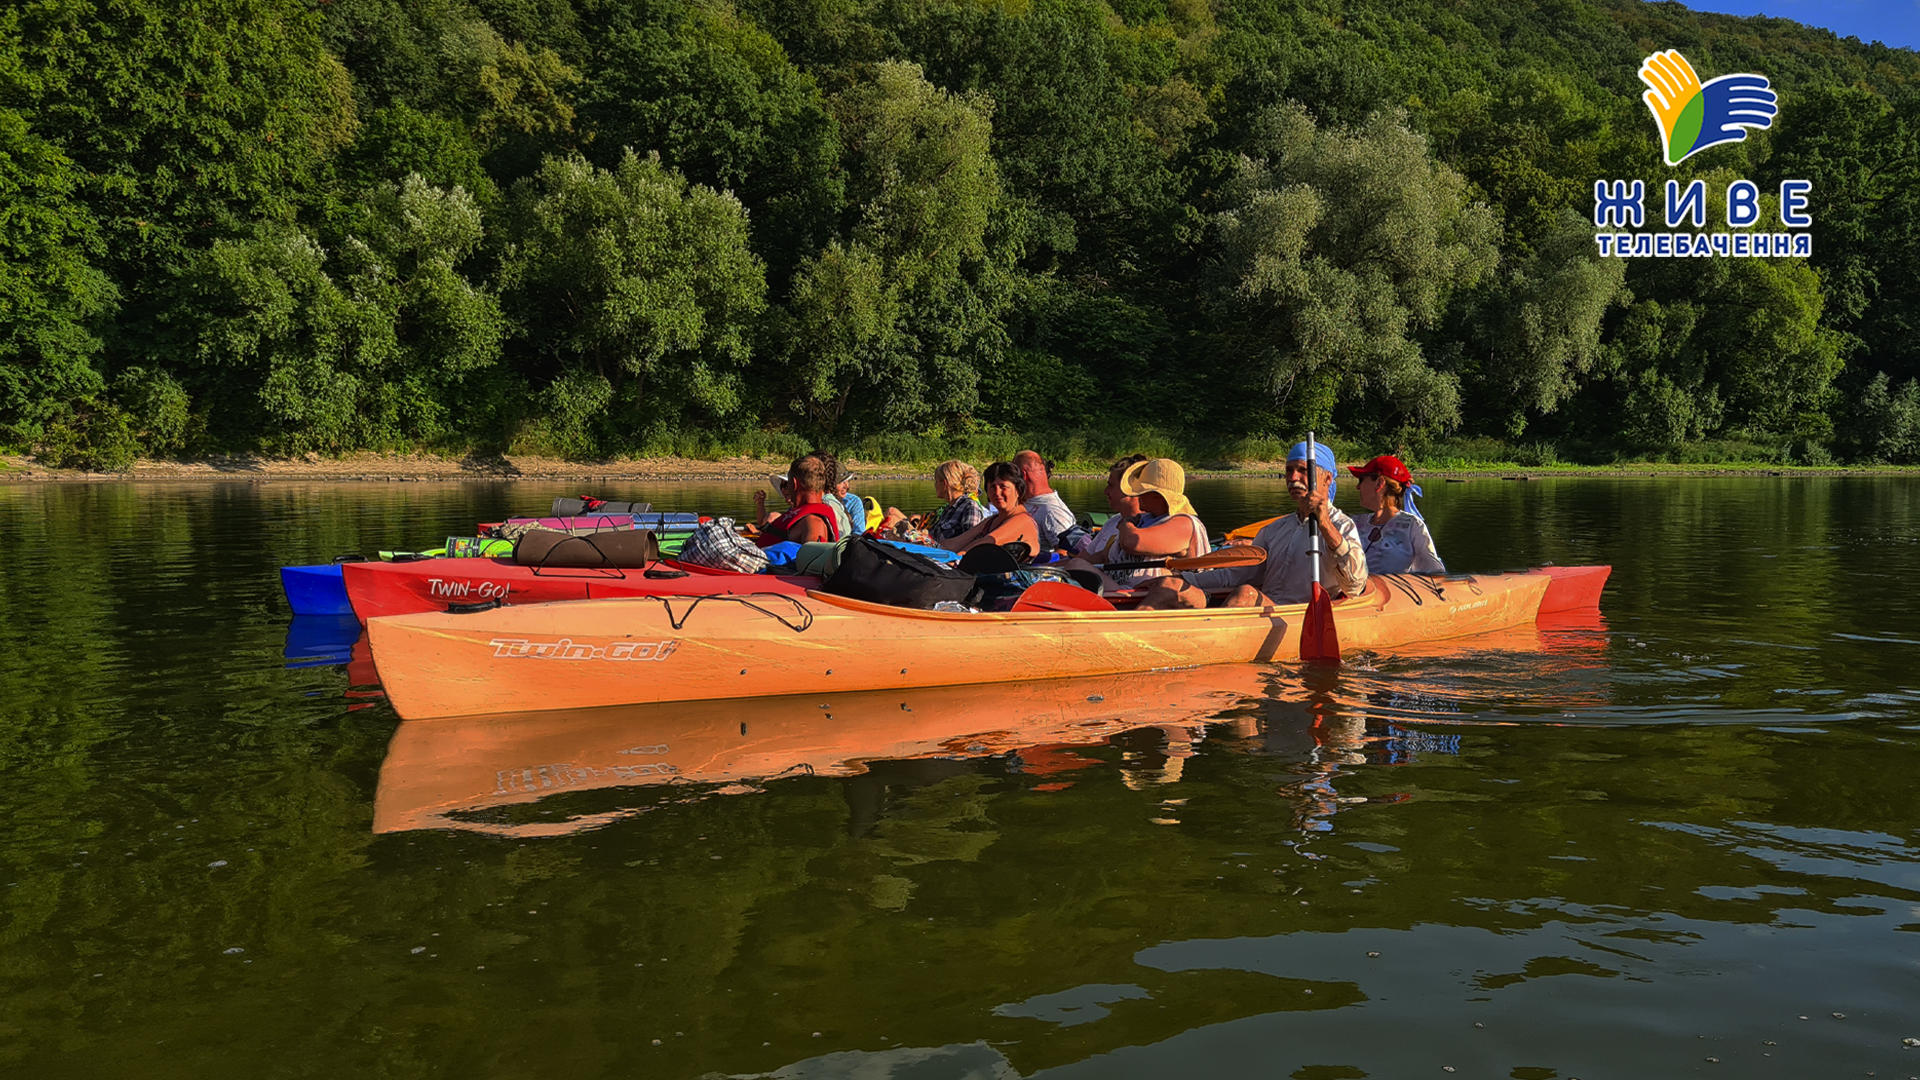
[[[1668,169],[1636,77],[1657,48],[1764,73],[1778,121]],[[1594,181],[1615,177],[1807,179],[1814,254],[1601,259]],[[1306,427],[1540,461],[1912,463],[1916,300],[1920,54],[1780,19],[0,10],[0,446],[52,463],[1231,459]]]

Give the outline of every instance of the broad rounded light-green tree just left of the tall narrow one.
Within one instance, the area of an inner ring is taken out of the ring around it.
[[[741,409],[766,269],[737,198],[632,150],[612,171],[555,158],[515,186],[507,240],[499,282],[538,382],[607,380],[622,427]]]

